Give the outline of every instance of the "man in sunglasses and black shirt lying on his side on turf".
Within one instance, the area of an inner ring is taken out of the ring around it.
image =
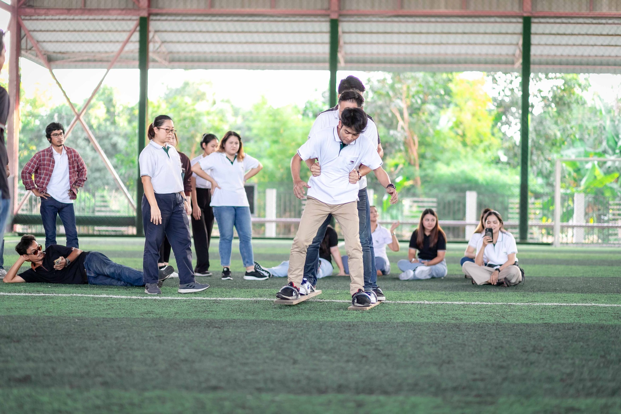
[[[142,272],[114,263],[98,251],[83,251],[75,247],[50,245],[45,251],[33,235],[24,235],[15,250],[17,261],[4,276],[5,283],[64,283],[108,286],[144,286]],[[24,262],[30,269],[17,274]],[[173,273],[172,266],[159,272],[158,285]]]

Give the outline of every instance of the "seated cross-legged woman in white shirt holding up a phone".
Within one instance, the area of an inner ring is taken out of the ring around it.
[[[499,212],[491,210],[483,218],[485,228],[492,229],[492,236],[484,236],[476,246],[474,263],[465,262],[461,269],[472,277],[473,284],[502,284],[513,286],[522,282],[522,272],[517,266],[517,246],[514,236],[504,230]],[[487,263],[487,264],[485,264]]]

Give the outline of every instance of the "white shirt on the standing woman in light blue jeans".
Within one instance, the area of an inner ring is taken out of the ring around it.
[[[211,196],[212,207],[230,205],[233,207],[250,207],[246,189],[244,188],[243,176],[246,171],[259,166],[259,161],[246,154],[242,161],[232,162],[224,152],[214,152],[198,161],[203,171],[209,174],[220,188],[215,189]]]

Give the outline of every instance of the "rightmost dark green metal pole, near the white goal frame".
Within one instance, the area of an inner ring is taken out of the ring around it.
[[[528,240],[528,115],[530,105],[530,16],[522,18],[522,122],[520,125],[520,241]]]

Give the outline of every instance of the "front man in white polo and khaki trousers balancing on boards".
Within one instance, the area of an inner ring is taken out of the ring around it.
[[[376,146],[369,140],[358,140],[366,128],[367,117],[360,108],[347,108],[341,114],[336,127],[319,130],[307,140],[291,160],[293,191],[296,197],[304,199],[304,187],[308,189],[306,207],[302,213],[296,237],[289,256],[289,283],[276,297],[283,300],[297,300],[300,295],[311,294],[313,287],[304,279],[306,250],[317,229],[325,218],[332,214],[345,236],[345,250],[350,261],[350,293],[354,306],[371,305],[371,294],[365,293],[362,247],[358,235],[358,179],[350,178],[350,172],[364,164],[373,170],[378,181],[391,195],[391,204],[398,200],[394,184],[381,167]],[[312,176],[308,184],[300,178],[302,161],[319,160],[319,176]]]

